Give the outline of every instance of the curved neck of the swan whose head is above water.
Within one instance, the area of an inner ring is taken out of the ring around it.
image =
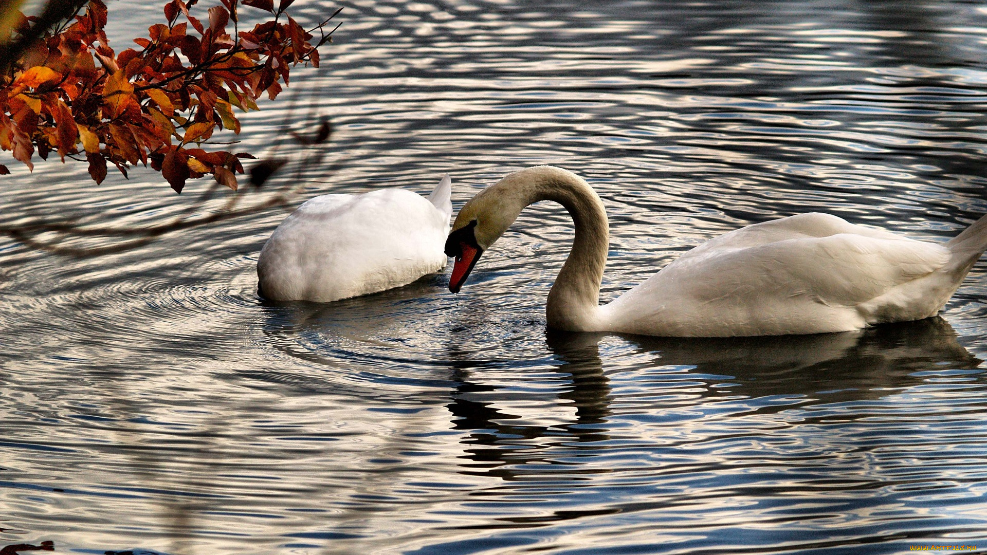
[[[552,200],[565,206],[572,217],[575,238],[546,304],[549,327],[572,332],[605,329],[599,296],[610,232],[603,201],[578,176],[551,166],[521,170],[503,182],[522,194],[518,198],[523,201],[522,208],[539,200]]]

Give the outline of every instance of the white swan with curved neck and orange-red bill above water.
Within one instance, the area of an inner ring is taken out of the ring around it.
[[[928,318],[987,248],[987,216],[937,244],[805,213],[721,235],[599,306],[609,236],[603,202],[574,174],[538,166],[506,176],[456,215],[445,246],[456,258],[449,290],[459,291],[483,252],[539,200],[559,202],[575,224],[546,306],[549,327],[575,332],[766,336]]]

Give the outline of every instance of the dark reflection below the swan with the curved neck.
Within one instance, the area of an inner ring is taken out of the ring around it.
[[[494,462],[558,462],[560,457],[577,456],[588,446],[583,443],[610,438],[621,428],[615,422],[632,413],[656,413],[683,402],[695,407],[723,399],[754,400],[757,412],[791,408],[791,404],[779,407],[757,402],[777,396],[830,404],[877,399],[889,390],[922,383],[924,371],[972,369],[981,362],[957,343],[949,323],[939,317],[813,336],[682,339],[552,332],[546,335],[546,343],[558,360],[558,402],[574,408],[569,424],[511,424],[519,417],[509,409],[497,408],[504,399],[498,397],[497,387],[479,384],[460,371],[448,408],[455,428],[477,431],[463,441],[469,445],[469,458],[491,466]],[[604,344],[607,348],[601,347]],[[627,346],[633,355],[608,357],[608,350]],[[628,364],[625,358],[636,361]],[[631,372],[634,379],[628,379],[625,372]],[[652,391],[645,397],[635,396],[634,408],[627,408],[631,395],[625,398],[621,389],[640,389],[637,380],[642,378]],[[679,395],[662,401],[662,396],[653,395],[655,388],[683,383],[689,385],[688,399]],[[643,406],[642,398],[650,399],[650,405]],[[538,440],[560,436],[569,437],[566,453],[550,448],[558,439]],[[503,448],[518,442],[525,448]]]

